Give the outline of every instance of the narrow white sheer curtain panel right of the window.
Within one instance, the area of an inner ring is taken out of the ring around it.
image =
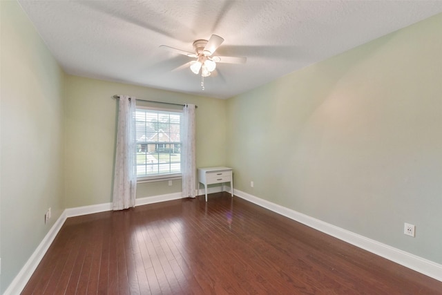
[[[181,173],[183,198],[196,196],[195,105],[186,104],[182,115]]]

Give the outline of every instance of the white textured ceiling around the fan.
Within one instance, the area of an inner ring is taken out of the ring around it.
[[[228,98],[442,12],[442,1],[35,1],[19,0],[66,73]],[[190,61],[195,39],[224,38],[204,79]],[[130,94],[130,93],[128,93]]]

